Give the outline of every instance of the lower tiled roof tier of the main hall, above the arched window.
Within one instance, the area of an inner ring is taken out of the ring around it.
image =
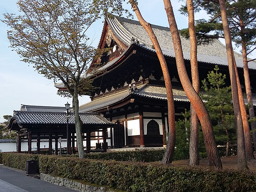
[[[121,101],[122,99],[127,98],[130,95],[137,95],[140,97],[147,97],[152,99],[167,100],[165,87],[144,84],[143,86],[138,86],[137,88],[138,91],[134,93],[129,93],[129,90],[127,89],[125,91],[108,95],[100,99],[95,99],[94,101],[81,105],[79,107],[79,112],[88,112],[93,111],[95,109],[101,109],[111,104],[115,104]],[[173,98],[174,101],[189,102],[185,92],[182,89],[173,88]]]

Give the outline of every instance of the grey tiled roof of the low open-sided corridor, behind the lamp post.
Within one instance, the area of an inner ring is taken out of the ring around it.
[[[80,113],[79,116],[86,125],[112,124],[98,113]],[[66,113],[14,111],[12,119],[15,119],[18,124],[66,124]],[[73,113],[69,117],[69,124],[75,124]]]

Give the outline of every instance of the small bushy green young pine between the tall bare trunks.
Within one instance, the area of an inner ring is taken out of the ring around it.
[[[234,109],[232,105],[231,86],[225,87],[226,75],[218,73],[216,65],[214,71],[207,75],[210,86],[206,79],[202,81],[205,93],[201,94],[206,108],[210,114],[215,139],[217,142],[226,141],[226,156],[228,156],[230,140],[235,137]]]

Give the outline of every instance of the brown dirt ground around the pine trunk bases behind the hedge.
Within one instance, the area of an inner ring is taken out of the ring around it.
[[[237,169],[237,156],[221,157],[221,163],[223,169]],[[173,161],[172,164],[178,166],[189,166],[189,160]],[[256,171],[256,160],[250,160],[249,162],[247,162],[247,164],[250,170]],[[203,167],[208,167],[208,160],[200,160],[199,165]]]

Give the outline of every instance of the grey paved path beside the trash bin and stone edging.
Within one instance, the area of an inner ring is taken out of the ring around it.
[[[28,177],[24,171],[0,166],[0,192],[74,192],[63,186]]]

